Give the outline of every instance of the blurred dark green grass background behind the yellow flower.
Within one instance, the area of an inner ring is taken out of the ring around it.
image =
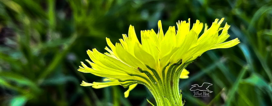
[[[225,17],[228,39],[241,43],[204,53],[180,80],[186,106],[272,105],[272,2],[270,0],[0,0],[0,105],[148,106],[150,92],[82,87],[101,77],[77,71],[86,50],[105,52],[134,25],[164,32],[178,20],[209,26]],[[224,24],[223,24],[224,25]],[[222,27],[223,27],[222,25]],[[209,82],[210,97],[193,97],[192,84]]]

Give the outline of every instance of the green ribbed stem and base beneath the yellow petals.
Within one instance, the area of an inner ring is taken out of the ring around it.
[[[157,106],[183,106],[182,94],[179,92],[179,75],[186,65],[173,64],[167,67],[166,73],[162,77],[156,77],[156,81],[148,88],[153,94]],[[161,71],[164,72],[164,71]],[[177,77],[178,76],[178,77]],[[162,79],[161,79],[162,78]]]

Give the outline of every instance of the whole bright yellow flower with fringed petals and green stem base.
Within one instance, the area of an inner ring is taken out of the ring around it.
[[[92,73],[106,77],[106,82],[82,82],[82,86],[104,88],[113,85],[129,87],[129,91],[137,84],[144,84],[153,94],[157,105],[183,105],[178,88],[179,78],[188,78],[189,71],[185,67],[199,58],[205,51],[216,48],[230,48],[237,45],[238,38],[224,42],[228,35],[228,24],[220,28],[220,21],[215,19],[211,27],[196,20],[190,29],[188,22],[177,22],[170,26],[165,35],[161,21],[158,22],[158,33],[153,29],[141,31],[141,43],[139,42],[134,27],[130,25],[128,36],[123,34],[120,43],[112,44],[106,38],[109,46],[108,52],[102,54],[96,49],[87,51],[90,59],[86,60],[92,67],[89,68],[83,62],[78,71]],[[219,31],[222,32],[219,35]]]

